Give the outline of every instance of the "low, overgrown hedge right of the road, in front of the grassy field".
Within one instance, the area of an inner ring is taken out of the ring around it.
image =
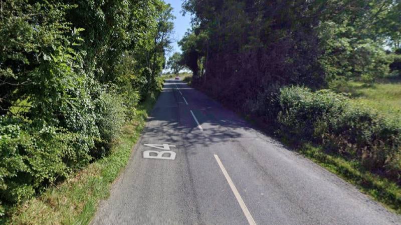
[[[281,135],[320,143],[327,151],[356,159],[366,168],[401,177],[401,121],[330,90],[280,89]]]

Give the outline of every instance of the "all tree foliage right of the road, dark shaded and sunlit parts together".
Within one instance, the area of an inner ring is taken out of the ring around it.
[[[193,85],[246,112],[277,86],[317,89],[335,79],[372,84],[388,75],[394,53],[384,46],[399,45],[399,1],[185,0],[182,5],[193,15],[191,30],[179,41]]]

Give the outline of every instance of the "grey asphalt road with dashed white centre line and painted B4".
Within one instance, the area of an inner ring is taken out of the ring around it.
[[[202,92],[166,80],[125,171],[92,224],[188,223],[401,219]]]

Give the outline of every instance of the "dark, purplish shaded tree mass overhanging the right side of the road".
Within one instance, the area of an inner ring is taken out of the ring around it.
[[[193,27],[179,44],[192,84],[243,111],[272,86],[324,86],[310,28],[316,21],[307,16],[308,3],[298,3],[185,1]]]

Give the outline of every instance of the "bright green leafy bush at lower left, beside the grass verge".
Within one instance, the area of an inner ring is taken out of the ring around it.
[[[77,150],[86,137],[46,125],[34,127],[21,119],[0,118],[0,198],[21,202],[49,184],[66,178],[89,161]]]

